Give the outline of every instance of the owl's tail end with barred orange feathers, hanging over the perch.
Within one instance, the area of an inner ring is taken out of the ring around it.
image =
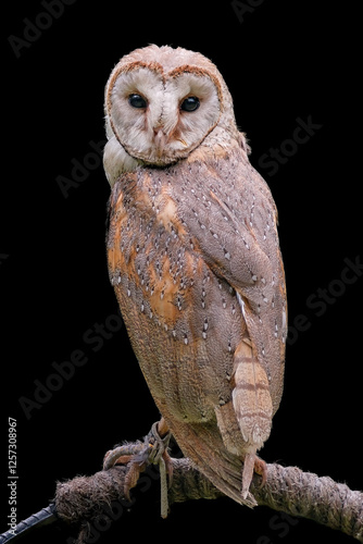
[[[217,406],[210,421],[180,421],[165,405],[159,408],[195,467],[225,495],[253,506],[249,489],[256,452],[270,435],[273,407],[266,372],[248,338],[237,346],[234,370],[231,400]]]

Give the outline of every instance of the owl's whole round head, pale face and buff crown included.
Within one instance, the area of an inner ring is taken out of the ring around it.
[[[182,48],[149,46],[123,57],[107,84],[104,108],[113,151],[118,145],[121,156],[151,165],[188,157],[217,125],[237,131],[215,65]]]

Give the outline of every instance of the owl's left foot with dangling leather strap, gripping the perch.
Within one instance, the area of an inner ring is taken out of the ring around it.
[[[164,419],[154,423],[150,433],[143,438],[143,442],[136,444],[124,444],[108,452],[103,459],[103,470],[109,470],[115,465],[127,465],[127,472],[124,481],[124,495],[130,500],[129,492],[136,486],[140,473],[149,465],[159,465],[160,484],[161,484],[161,516],[167,517],[167,483],[172,484],[173,463],[167,453],[167,446],[171,438]]]

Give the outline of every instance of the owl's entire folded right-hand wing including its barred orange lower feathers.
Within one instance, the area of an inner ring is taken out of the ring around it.
[[[242,455],[248,456],[246,496],[255,453],[270,435],[283,392],[287,311],[276,208],[245,153],[212,165],[196,161],[189,172],[183,193],[191,196],[178,197],[179,217],[205,262],[236,289],[247,325],[234,351],[233,382],[233,408],[245,442]],[[220,411],[218,428],[233,452],[228,432],[233,416],[226,408],[223,415]]]

